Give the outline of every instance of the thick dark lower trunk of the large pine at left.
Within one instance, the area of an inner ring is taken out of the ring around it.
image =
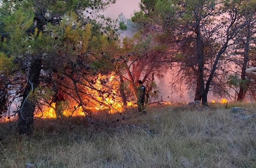
[[[23,100],[19,112],[19,135],[32,135],[34,130],[35,102],[30,100],[30,95],[39,84],[41,64],[41,59],[35,59],[31,62],[29,79],[22,95]]]

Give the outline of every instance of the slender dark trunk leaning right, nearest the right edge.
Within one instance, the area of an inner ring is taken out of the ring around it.
[[[245,70],[247,68],[247,62],[248,62],[250,36],[251,36],[251,33],[250,33],[250,28],[248,26],[247,36],[246,36],[246,43],[245,43],[245,47],[244,47],[244,63],[243,63],[242,74],[241,74],[241,79],[242,80],[246,79],[245,78],[246,77]],[[238,93],[238,96],[237,96],[237,101],[243,101],[245,94],[246,94],[245,86],[240,86],[239,93]]]

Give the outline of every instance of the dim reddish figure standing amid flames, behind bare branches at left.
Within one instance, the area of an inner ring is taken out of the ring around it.
[[[62,113],[63,105],[65,98],[64,96],[57,90],[57,93],[54,97],[53,102],[55,103],[55,113],[57,118],[63,118],[64,115]]]

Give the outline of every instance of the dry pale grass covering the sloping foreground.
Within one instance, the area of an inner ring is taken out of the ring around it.
[[[235,119],[216,107],[154,107],[116,128],[85,127],[82,119],[37,120],[34,137],[22,140],[2,124],[0,167],[255,168],[256,119]]]

